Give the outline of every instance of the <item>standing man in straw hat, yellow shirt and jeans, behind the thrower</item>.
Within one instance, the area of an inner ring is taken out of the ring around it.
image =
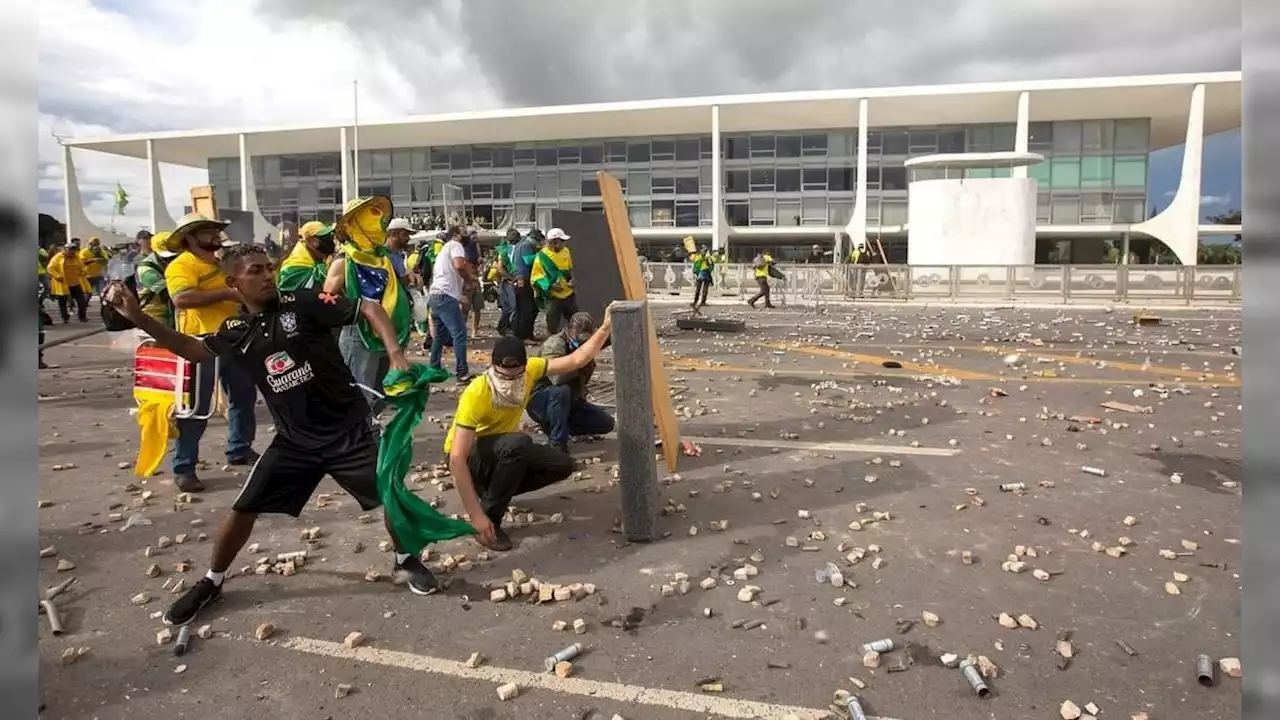
[[[178,332],[191,336],[216,333],[223,320],[239,313],[239,296],[227,284],[227,274],[218,266],[215,254],[221,249],[221,232],[228,223],[212,220],[197,213],[186,215],[169,236],[169,243],[180,247],[182,254],[165,268],[164,279],[169,297],[178,309]],[[253,404],[257,389],[252,378],[239,366],[225,363],[219,366],[223,392],[227,393],[227,464],[252,465],[257,462],[253,436],[257,421]],[[214,363],[200,365],[200,387],[196,388],[196,414],[204,415],[214,400]],[[206,420],[179,419],[178,439],[173,451],[174,484],[183,492],[205,489],[196,477],[200,460],[200,438],[205,434]]]

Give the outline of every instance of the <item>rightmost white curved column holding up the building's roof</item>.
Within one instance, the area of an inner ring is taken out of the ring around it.
[[[1194,265],[1199,250],[1201,169],[1204,158],[1204,86],[1192,90],[1187,117],[1187,145],[1178,192],[1167,208],[1133,229],[1162,241],[1183,265]]]

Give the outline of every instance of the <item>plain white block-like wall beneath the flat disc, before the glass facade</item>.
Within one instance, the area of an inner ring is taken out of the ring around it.
[[[1034,179],[923,179],[908,195],[908,264],[1036,264]]]

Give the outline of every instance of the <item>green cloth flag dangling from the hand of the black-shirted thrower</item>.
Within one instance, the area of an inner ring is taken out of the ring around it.
[[[396,416],[378,443],[378,495],[392,534],[402,552],[411,555],[434,542],[475,534],[470,523],[440,515],[404,487],[404,475],[413,464],[413,429],[426,410],[430,384],[448,378],[448,370],[413,364],[408,370],[389,370],[383,379],[387,402],[396,409]]]

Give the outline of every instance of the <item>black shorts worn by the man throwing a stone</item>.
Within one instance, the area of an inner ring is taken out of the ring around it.
[[[302,512],[320,480],[329,475],[362,510],[381,506],[378,495],[378,436],[360,423],[321,448],[298,447],[280,436],[253,465],[232,509],[250,515]]]

